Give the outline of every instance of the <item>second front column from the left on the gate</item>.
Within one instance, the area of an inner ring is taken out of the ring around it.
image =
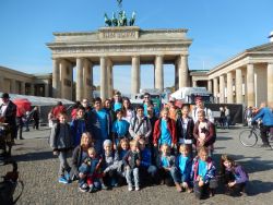
[[[82,101],[83,99],[83,59],[76,59],[76,83],[75,83],[75,100]]]

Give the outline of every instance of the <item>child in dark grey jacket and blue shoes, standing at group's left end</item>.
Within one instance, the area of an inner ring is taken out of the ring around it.
[[[58,155],[60,160],[59,182],[70,182],[70,166],[68,164],[69,152],[73,148],[73,137],[69,124],[67,123],[67,113],[60,112],[58,122],[54,124],[50,134],[50,147],[54,149],[54,155]],[[67,173],[64,174],[64,171]],[[66,177],[64,177],[66,176]]]

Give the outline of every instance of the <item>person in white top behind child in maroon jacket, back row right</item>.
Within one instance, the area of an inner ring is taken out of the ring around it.
[[[192,117],[194,123],[199,120],[198,113],[199,113],[200,110],[203,110],[204,114],[205,114],[204,117],[209,121],[214,123],[214,118],[213,118],[213,114],[212,114],[212,110],[204,106],[204,101],[202,100],[202,98],[197,97],[195,98],[195,107],[193,108],[192,113],[191,113],[191,117]]]

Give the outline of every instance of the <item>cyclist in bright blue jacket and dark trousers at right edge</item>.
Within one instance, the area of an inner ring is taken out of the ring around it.
[[[262,145],[261,147],[270,147],[268,132],[273,128],[273,112],[269,107],[262,107],[256,117],[251,120],[251,123],[254,123],[256,120],[261,119],[262,123],[260,124]]]

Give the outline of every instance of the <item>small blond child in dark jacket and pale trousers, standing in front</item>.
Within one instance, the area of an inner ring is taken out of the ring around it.
[[[128,191],[133,190],[132,174],[133,174],[135,191],[139,191],[140,190],[139,167],[141,162],[141,157],[139,150],[139,142],[136,140],[132,140],[130,142],[130,150],[126,154],[123,161],[126,169],[126,179],[128,183]]]

